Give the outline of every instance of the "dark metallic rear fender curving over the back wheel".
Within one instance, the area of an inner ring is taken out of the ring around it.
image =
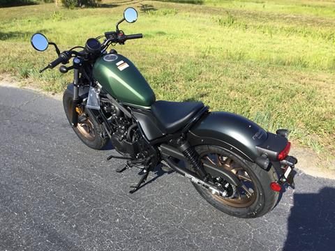
[[[260,156],[256,146],[264,143],[267,132],[253,121],[229,112],[209,112],[188,132],[193,145],[211,144],[255,162]]]

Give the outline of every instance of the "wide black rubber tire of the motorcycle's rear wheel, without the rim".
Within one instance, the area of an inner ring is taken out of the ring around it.
[[[243,165],[248,174],[251,176],[252,180],[257,183],[257,197],[253,204],[244,208],[236,208],[214,199],[211,195],[211,191],[202,188],[202,186],[192,183],[195,189],[200,193],[200,195],[212,206],[218,208],[218,210],[223,211],[223,213],[227,213],[228,215],[232,215],[238,218],[257,218],[262,215],[265,215],[269,211],[271,211],[276,204],[278,204],[278,200],[280,199],[279,192],[274,192],[270,188],[270,183],[278,180],[278,174],[274,167],[271,167],[269,171],[266,171],[253,162],[249,162],[248,160],[244,160],[239,155],[233,155],[228,151],[225,151],[221,147],[218,146],[196,146],[195,150],[201,155],[204,151],[212,150],[215,152],[222,153],[223,155],[232,158],[234,161],[238,161],[239,164]],[[191,163],[186,163],[189,169],[192,169]]]

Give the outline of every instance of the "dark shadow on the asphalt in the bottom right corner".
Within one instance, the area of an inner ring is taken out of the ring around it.
[[[334,250],[335,189],[295,194],[283,250]]]

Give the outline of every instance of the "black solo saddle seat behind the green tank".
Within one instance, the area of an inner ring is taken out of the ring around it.
[[[204,107],[202,102],[170,102],[159,100],[151,105],[151,112],[161,122],[166,132],[172,133],[186,126]]]

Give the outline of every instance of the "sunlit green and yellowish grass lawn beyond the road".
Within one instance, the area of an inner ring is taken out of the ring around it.
[[[142,40],[117,46],[140,68],[158,99],[203,100],[267,130],[289,128],[321,158],[335,156],[335,2],[103,1],[67,10],[53,3],[0,8],[0,73],[61,92],[72,74],[39,74],[56,57],[36,52],[33,33],[66,50],[115,29],[126,6],[139,11],[125,33]],[[198,3],[198,4],[190,4]]]

